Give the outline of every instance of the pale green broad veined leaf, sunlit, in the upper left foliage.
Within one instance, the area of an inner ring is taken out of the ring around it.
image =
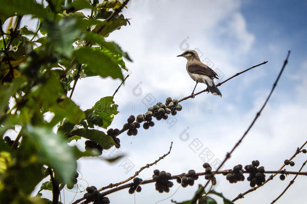
[[[76,26],[76,20],[73,18],[63,18],[58,23],[45,21],[43,28],[47,30],[47,42],[54,50],[71,57],[73,46],[72,43],[80,36],[81,30]]]

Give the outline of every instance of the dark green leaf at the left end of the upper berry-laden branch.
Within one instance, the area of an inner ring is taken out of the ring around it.
[[[98,143],[104,150],[108,150],[115,145],[112,137],[105,134],[103,131],[97,129],[77,129],[71,132],[72,134],[79,135],[83,138],[95,141]]]

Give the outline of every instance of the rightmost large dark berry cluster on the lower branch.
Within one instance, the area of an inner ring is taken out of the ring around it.
[[[247,177],[247,180],[250,181],[250,186],[255,187],[257,184],[258,186],[262,185],[265,181],[265,174],[264,174],[264,167],[258,167],[260,165],[258,160],[252,161],[252,164],[246,165],[244,169],[250,173]],[[257,168],[258,167],[258,168]]]

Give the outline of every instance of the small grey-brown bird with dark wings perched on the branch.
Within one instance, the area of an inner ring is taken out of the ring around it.
[[[187,72],[196,82],[196,85],[191,94],[192,98],[195,97],[194,91],[198,83],[206,84],[209,92],[211,92],[213,95],[222,97],[222,94],[217,89],[213,81],[214,78],[218,79],[217,74],[209,66],[200,61],[199,56],[195,50],[189,49],[177,56],[182,56],[188,60],[186,65]]]

